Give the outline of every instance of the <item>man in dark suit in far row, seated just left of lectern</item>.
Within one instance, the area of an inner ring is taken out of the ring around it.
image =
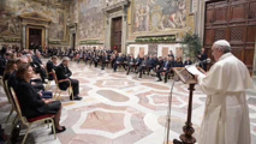
[[[164,65],[163,67],[160,69],[160,70],[157,70],[156,71],[156,76],[158,77],[159,80],[157,81],[162,81],[162,78],[161,78],[161,75],[160,73],[161,72],[164,72],[164,83],[167,82],[167,76],[168,76],[168,73],[170,72],[170,69],[174,67],[174,62],[172,60],[172,57],[167,57],[167,61],[164,62]]]

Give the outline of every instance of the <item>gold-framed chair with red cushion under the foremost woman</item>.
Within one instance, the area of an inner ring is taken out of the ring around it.
[[[27,132],[26,132],[26,134],[25,134],[25,136],[24,136],[24,138],[22,140],[22,144],[25,143],[25,141],[27,139],[27,136],[28,136],[28,132],[31,129],[35,129],[35,128],[39,127],[39,126],[36,126],[36,127],[32,128],[32,125],[36,125],[38,123],[42,123],[42,125],[48,125],[48,128],[49,128],[49,123],[45,124],[45,121],[49,121],[49,120],[52,121],[52,128],[53,128],[54,139],[56,139],[55,125],[54,125],[54,121],[53,121],[53,118],[55,117],[55,115],[54,114],[45,114],[45,115],[42,115],[42,116],[39,116],[39,117],[34,117],[34,118],[23,117],[21,109],[20,109],[20,104],[19,104],[18,98],[17,98],[13,88],[10,87],[10,89],[11,89],[12,98],[13,98],[15,106],[17,108],[17,114],[19,116],[19,119],[21,120],[23,125],[27,125],[28,126],[28,130],[27,130]],[[42,125],[40,125],[40,126],[42,126]]]

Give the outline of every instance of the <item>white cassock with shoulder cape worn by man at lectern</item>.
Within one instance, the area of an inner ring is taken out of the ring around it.
[[[226,53],[198,84],[207,95],[199,144],[251,144],[245,90],[254,86],[244,63]]]

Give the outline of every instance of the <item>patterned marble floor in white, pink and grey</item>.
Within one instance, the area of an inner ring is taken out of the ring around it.
[[[46,60],[44,60],[46,62]],[[67,93],[61,95],[61,125],[67,131],[49,136],[50,129],[42,127],[31,131],[26,143],[51,144],[161,144],[165,136],[168,95],[171,82],[156,82],[156,77],[135,74],[125,75],[124,70],[113,73],[84,63],[70,63],[72,78],[80,82],[82,101],[68,101]],[[51,90],[55,84],[51,83]],[[188,86],[175,82],[172,98],[172,119],[170,139],[178,139],[187,118]],[[256,144],[256,90],[247,92],[250,109],[252,144]],[[204,113],[206,95],[197,87],[193,97],[192,123],[194,136],[199,136]],[[7,98],[1,87],[0,120],[4,123],[10,110]],[[12,115],[11,120],[15,117]],[[10,133],[11,121],[3,124]],[[21,132],[20,139],[25,131]],[[19,140],[21,141],[21,140]]]

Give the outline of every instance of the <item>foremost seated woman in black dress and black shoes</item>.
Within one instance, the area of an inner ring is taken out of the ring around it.
[[[60,126],[61,102],[52,99],[41,99],[41,94],[30,84],[34,72],[29,64],[22,65],[16,72],[18,80],[15,93],[20,103],[22,116],[27,118],[39,117],[45,114],[55,114],[54,124],[56,132],[61,133],[66,130],[65,126]]]

